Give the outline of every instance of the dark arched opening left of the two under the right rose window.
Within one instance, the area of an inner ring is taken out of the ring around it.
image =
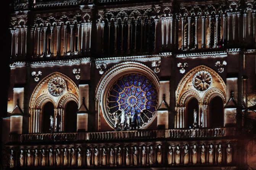
[[[185,127],[189,128],[189,127],[193,127],[193,123],[194,123],[194,109],[196,110],[197,113],[197,122],[198,122],[198,101],[195,97],[191,97],[190,99],[188,99],[187,103],[186,103],[186,117],[185,117]]]

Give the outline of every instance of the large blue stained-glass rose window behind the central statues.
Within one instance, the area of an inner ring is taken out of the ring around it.
[[[121,110],[131,115],[140,114],[141,127],[155,117],[157,109],[157,91],[146,76],[130,74],[120,78],[110,89],[107,100],[108,118],[114,123],[113,113]]]

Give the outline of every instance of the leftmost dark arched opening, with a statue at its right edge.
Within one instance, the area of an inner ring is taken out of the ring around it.
[[[42,132],[50,132],[50,116],[54,117],[54,106],[52,102],[47,102],[42,108]]]

